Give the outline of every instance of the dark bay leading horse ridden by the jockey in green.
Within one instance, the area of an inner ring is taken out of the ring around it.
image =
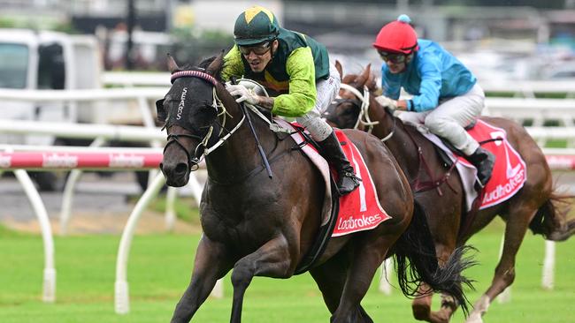
[[[157,101],[158,119],[168,133],[160,165],[167,184],[186,184],[203,157],[208,170],[200,206],[203,236],[191,282],[172,322],[192,319],[215,282],[232,269],[230,321],[240,322],[244,293],[253,277],[295,274],[321,222],[325,181],[290,137],[270,131],[264,119],[234,101],[219,80],[222,64],[220,55],[180,69],[170,58],[173,86]],[[472,263],[462,258],[465,248],[440,267],[426,217],[414,212],[418,208],[409,183],[394,157],[364,131],[346,134],[376,175],[380,204],[392,218],[375,229],[332,238],[311,266],[331,321],[372,322],[360,302],[392,253],[401,264],[398,279],[406,295],[414,295],[418,283],[426,282],[465,302],[461,285],[469,281],[461,272]],[[259,147],[268,157],[271,174]]]

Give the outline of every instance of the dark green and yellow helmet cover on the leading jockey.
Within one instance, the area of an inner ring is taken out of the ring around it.
[[[272,41],[280,33],[278,19],[272,11],[253,6],[243,11],[234,26],[234,41],[239,46],[251,46],[264,41]]]

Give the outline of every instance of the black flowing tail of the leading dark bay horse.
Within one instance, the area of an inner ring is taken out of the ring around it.
[[[440,267],[425,210],[416,202],[413,220],[395,244],[395,270],[403,295],[416,297],[421,292],[418,291],[419,283],[425,282],[429,286],[427,292],[443,292],[454,297],[466,316],[469,301],[463,288],[473,287],[472,281],[464,277],[462,272],[476,264],[471,258],[464,258],[464,253],[469,249],[473,249],[472,246],[456,248],[448,261]]]

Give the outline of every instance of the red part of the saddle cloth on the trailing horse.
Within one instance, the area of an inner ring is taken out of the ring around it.
[[[507,141],[507,132],[481,120],[468,132],[478,142],[502,139],[481,145],[495,154],[495,166],[491,179],[483,189],[479,208],[493,207],[510,199],[525,184],[527,171],[525,162]],[[458,158],[460,162],[464,161],[462,157]]]

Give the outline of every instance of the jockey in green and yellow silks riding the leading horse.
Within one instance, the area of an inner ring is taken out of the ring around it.
[[[338,191],[357,188],[358,178],[335,136],[321,118],[339,93],[341,77],[329,63],[326,47],[304,34],[281,28],[272,11],[254,6],[235,20],[234,47],[226,53],[222,79],[253,79],[269,97],[257,95],[242,83],[227,85],[236,101],[291,116],[322,147],[322,155],[339,173]]]

